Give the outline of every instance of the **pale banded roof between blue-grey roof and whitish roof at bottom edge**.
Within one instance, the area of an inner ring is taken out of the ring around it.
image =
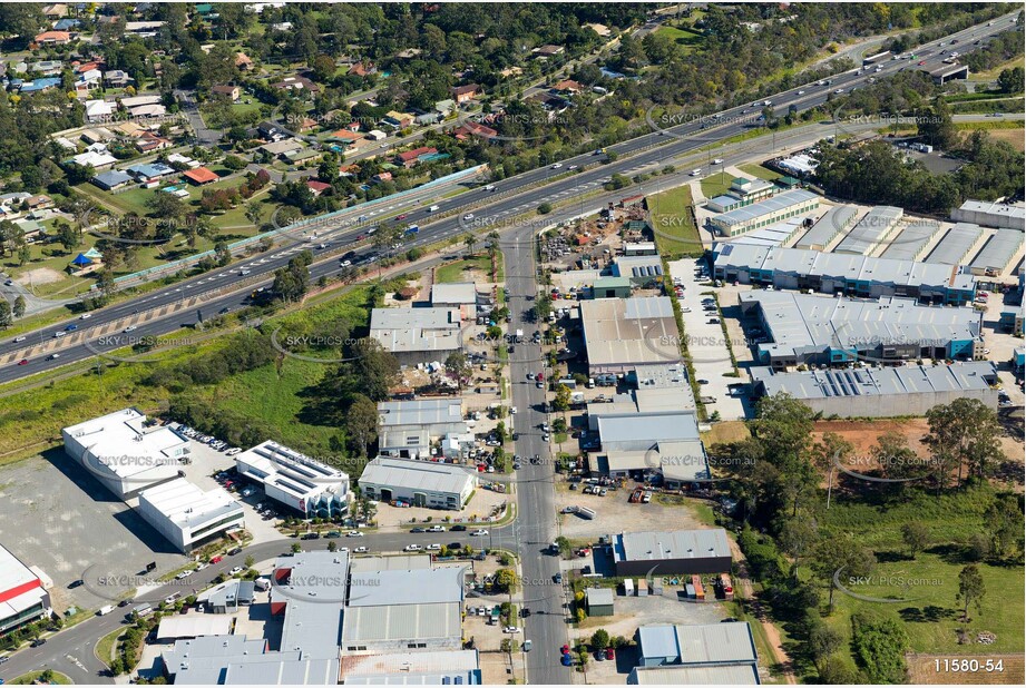
[[[456,640],[462,635],[459,602],[352,607],[345,611],[343,645],[353,642]]]

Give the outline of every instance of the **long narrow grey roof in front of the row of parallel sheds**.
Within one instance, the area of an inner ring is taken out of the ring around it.
[[[971,291],[976,277],[950,266],[892,261],[800,248],[770,248],[742,244],[717,245],[716,269],[775,271],[784,274],[851,279],[895,286]]]

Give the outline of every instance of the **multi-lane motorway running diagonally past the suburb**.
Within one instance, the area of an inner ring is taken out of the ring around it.
[[[927,68],[940,67],[944,56],[937,48],[941,42],[957,39],[966,46],[965,50],[968,52],[971,51],[975,41],[1008,30],[1014,19],[1014,14],[1007,14],[987,24],[971,27],[931,41],[917,49],[919,57],[926,62]],[[804,85],[771,96],[766,100],[770,100],[778,111],[788,111],[793,106],[801,112],[823,105],[831,97],[830,94],[837,90],[849,91],[852,87],[866,83],[870,78],[882,78],[908,67],[905,60],[888,60],[879,66],[882,68],[880,72],[851,70],[833,77],[827,86]],[[467,229],[462,217],[467,213],[475,215],[478,223],[475,226],[486,226],[488,218],[508,218],[532,213],[543,203],[565,202],[598,190],[604,180],[613,174],[632,176],[636,170],[670,161],[690,151],[710,148],[715,151],[715,147],[725,139],[758,127],[759,109],[751,105],[736,107],[676,125],[673,121],[661,122],[658,118],[653,118],[654,131],[608,148],[616,153],[616,160],[597,164],[600,156],[582,155],[563,160],[558,167],[554,164],[498,181],[495,184],[495,191],[477,186],[467,193],[438,199],[434,203],[438,206],[437,210],[421,207],[405,214],[403,223],[419,224],[420,230],[403,246],[426,246],[463,234]],[[578,169],[571,170],[575,166]],[[118,333],[127,326],[131,316],[144,311],[147,313],[147,327],[145,333],[140,328],[136,336],[173,332],[183,325],[195,324],[201,314],[207,317],[216,315],[225,307],[216,299],[218,295],[229,292],[233,286],[257,288],[267,285],[274,271],[285,266],[296,253],[306,248],[316,250],[315,244],[305,242],[306,235],[314,232],[317,234],[317,243],[330,240],[335,246],[352,244],[355,250],[353,264],[372,262],[377,257],[375,249],[356,248],[360,240],[358,237],[365,235],[370,227],[370,219],[365,218],[364,214],[358,206],[333,215],[323,224],[316,220],[307,222],[300,229],[284,226],[279,248],[236,263],[229,268],[213,271],[101,308],[86,322],[71,322],[78,325],[78,328],[67,333],[67,336],[57,336],[65,335],[69,322],[63,322],[27,333],[22,335],[25,340],[18,337],[18,341],[4,341],[0,344],[0,382],[18,380],[81,361],[97,355],[97,352],[120,348],[125,344],[110,335]],[[442,219],[432,222],[437,217]],[[501,224],[499,228],[501,229]],[[320,269],[312,269],[312,276],[341,272],[338,262],[329,267],[330,263],[326,262]],[[240,274],[243,271],[248,274]],[[262,276],[265,279],[261,281]],[[237,303],[238,299],[232,301]],[[101,335],[106,335],[105,342],[96,342]],[[53,353],[58,356],[52,357]],[[27,361],[27,364],[18,365],[20,361]]]

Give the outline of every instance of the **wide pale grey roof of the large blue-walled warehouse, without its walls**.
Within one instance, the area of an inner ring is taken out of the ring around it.
[[[741,308],[756,306],[773,338],[759,344],[773,356],[800,356],[829,348],[866,351],[879,344],[946,346],[979,337],[980,314],[957,306],[920,306],[913,298],[832,298],[797,292],[740,294]]]

